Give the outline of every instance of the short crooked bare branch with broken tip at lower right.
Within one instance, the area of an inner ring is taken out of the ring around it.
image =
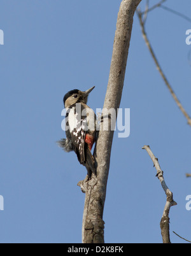
[[[174,206],[177,203],[173,200],[173,193],[169,190],[169,188],[166,185],[166,182],[164,181],[163,171],[160,168],[159,160],[153,154],[152,150],[150,149],[150,146],[143,146],[143,149],[146,150],[146,152],[152,159],[153,164],[157,169],[156,176],[159,178],[160,184],[162,185],[162,188],[164,189],[164,192],[166,193],[166,196],[167,196],[166,205],[164,207],[162,218],[160,220],[160,229],[161,229],[163,243],[171,243],[170,234],[169,234],[169,220],[170,220],[169,211],[171,206]]]

